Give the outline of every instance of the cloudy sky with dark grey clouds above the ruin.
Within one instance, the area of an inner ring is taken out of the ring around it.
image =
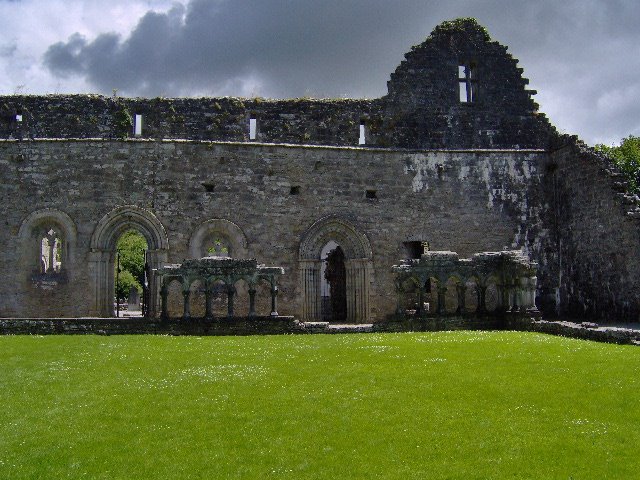
[[[640,135],[640,0],[0,0],[0,94],[379,97],[456,17],[520,59],[560,131]]]

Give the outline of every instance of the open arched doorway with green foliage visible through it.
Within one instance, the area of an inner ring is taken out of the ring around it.
[[[149,305],[149,266],[144,236],[127,230],[116,242],[114,310],[117,317],[145,316]]]

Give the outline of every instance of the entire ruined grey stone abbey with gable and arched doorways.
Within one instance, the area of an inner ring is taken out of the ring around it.
[[[152,318],[232,301],[268,316],[277,296],[281,315],[375,323],[425,303],[476,311],[493,291],[494,307],[638,321],[638,200],[538,112],[522,74],[457,20],[378,99],[0,97],[0,317],[113,316],[116,242],[135,229]],[[216,245],[258,263],[185,273]],[[494,258],[516,258],[510,285]]]

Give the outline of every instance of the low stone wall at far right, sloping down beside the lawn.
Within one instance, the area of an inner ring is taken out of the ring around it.
[[[505,325],[508,330],[548,333],[562,337],[592,340],[595,342],[640,345],[640,330],[601,326],[595,323],[550,321],[536,318],[512,318]]]

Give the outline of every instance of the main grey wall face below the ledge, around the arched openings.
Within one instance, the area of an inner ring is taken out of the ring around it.
[[[539,165],[545,159],[542,151],[3,141],[0,316],[91,313],[92,235],[114,208],[134,205],[153,212],[166,229],[169,262],[189,258],[189,242],[203,222],[235,223],[246,235],[247,256],[285,268],[279,312],[291,315],[301,312],[305,231],[328,215],[344,218],[371,244],[371,319],[381,320],[395,309],[391,266],[407,256],[406,241],[429,241],[432,249],[461,256],[506,246],[535,257],[544,233]],[[66,283],[37,284],[33,264],[23,258],[21,225],[43,209],[64,212],[77,231]],[[262,302],[259,314],[268,308],[268,298]]]

